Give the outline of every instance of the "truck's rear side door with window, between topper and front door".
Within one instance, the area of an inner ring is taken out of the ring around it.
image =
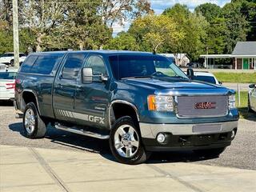
[[[86,53],[69,53],[54,81],[54,114],[59,120],[74,122],[74,95]]]

